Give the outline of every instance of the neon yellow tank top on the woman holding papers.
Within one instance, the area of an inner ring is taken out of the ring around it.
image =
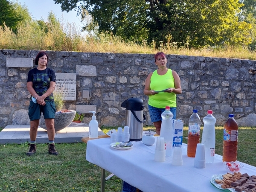
[[[168,69],[167,73],[163,76],[157,74],[155,70],[150,79],[151,90],[164,90],[168,88],[175,88],[174,77],[172,76],[172,70]],[[165,108],[170,106],[171,108],[176,107],[176,94],[175,93],[164,93],[160,92],[155,95],[148,96],[148,105],[155,108]]]

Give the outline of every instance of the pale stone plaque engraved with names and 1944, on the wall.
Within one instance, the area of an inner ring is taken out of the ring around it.
[[[76,100],[76,73],[55,73],[55,90],[63,92],[64,100]]]

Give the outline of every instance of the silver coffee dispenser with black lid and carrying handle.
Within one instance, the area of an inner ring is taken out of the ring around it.
[[[143,122],[146,116],[143,113],[143,100],[130,98],[122,102],[122,108],[126,108],[125,125],[129,127],[130,141],[141,141],[143,136]]]

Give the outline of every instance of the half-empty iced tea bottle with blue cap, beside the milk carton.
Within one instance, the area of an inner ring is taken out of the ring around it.
[[[189,134],[187,148],[188,157],[195,157],[196,146],[198,143],[200,143],[201,120],[197,112],[198,111],[194,109],[192,115],[189,118]]]

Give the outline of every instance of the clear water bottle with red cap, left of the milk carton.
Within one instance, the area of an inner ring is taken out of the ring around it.
[[[173,114],[170,111],[170,107],[166,106],[166,111],[162,114],[162,124],[160,137],[164,138],[166,156],[172,156],[172,143],[173,143],[173,133],[172,133],[172,118]]]

